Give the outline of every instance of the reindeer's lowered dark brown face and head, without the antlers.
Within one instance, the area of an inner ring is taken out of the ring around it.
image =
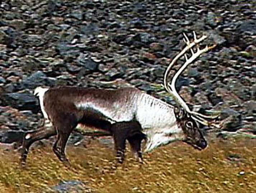
[[[183,142],[186,142],[199,150],[205,149],[207,147],[207,142],[204,135],[201,133],[198,124],[192,119],[191,115],[182,108],[175,108],[174,114],[177,119],[177,124],[182,128],[185,135]]]

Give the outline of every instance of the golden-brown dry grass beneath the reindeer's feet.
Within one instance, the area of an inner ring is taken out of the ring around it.
[[[87,148],[69,146],[67,154],[71,167],[50,146],[34,148],[22,168],[17,152],[0,149],[0,192],[52,192],[63,180],[86,182],[99,193],[256,192],[255,139],[214,139],[201,152],[176,142],[145,154],[142,165],[128,151],[117,167],[113,150],[97,140]]]

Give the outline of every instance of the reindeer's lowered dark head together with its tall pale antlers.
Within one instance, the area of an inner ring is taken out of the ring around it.
[[[207,142],[201,133],[198,123],[201,123],[203,125],[207,126],[213,126],[220,128],[221,125],[218,123],[215,123],[215,119],[219,115],[204,115],[200,114],[194,111],[191,111],[186,102],[181,98],[181,96],[177,93],[175,88],[175,83],[178,78],[178,76],[182,73],[183,70],[186,69],[186,67],[191,64],[197,57],[199,57],[201,54],[205,53],[206,51],[214,48],[216,45],[213,46],[206,46],[204,49],[199,49],[199,43],[207,38],[207,36],[202,36],[201,38],[197,39],[195,32],[194,34],[194,40],[190,42],[190,40],[187,38],[186,34],[184,35],[184,41],[186,43],[186,47],[176,55],[176,57],[172,60],[171,64],[169,64],[168,68],[166,69],[166,72],[164,74],[164,88],[176,99],[176,102],[182,107],[181,109],[174,109],[174,114],[177,119],[177,123],[179,127],[182,128],[185,139],[184,141],[188,144],[191,144],[193,147],[197,149],[204,149],[207,147]],[[197,46],[196,52],[194,52],[193,48]],[[188,57],[186,55],[186,52],[190,50],[191,56]],[[185,63],[178,69],[178,71],[174,74],[171,84],[168,83],[168,77],[170,74],[171,67],[176,63],[176,61],[181,57],[185,56]],[[208,121],[207,119],[211,119],[211,121]]]

